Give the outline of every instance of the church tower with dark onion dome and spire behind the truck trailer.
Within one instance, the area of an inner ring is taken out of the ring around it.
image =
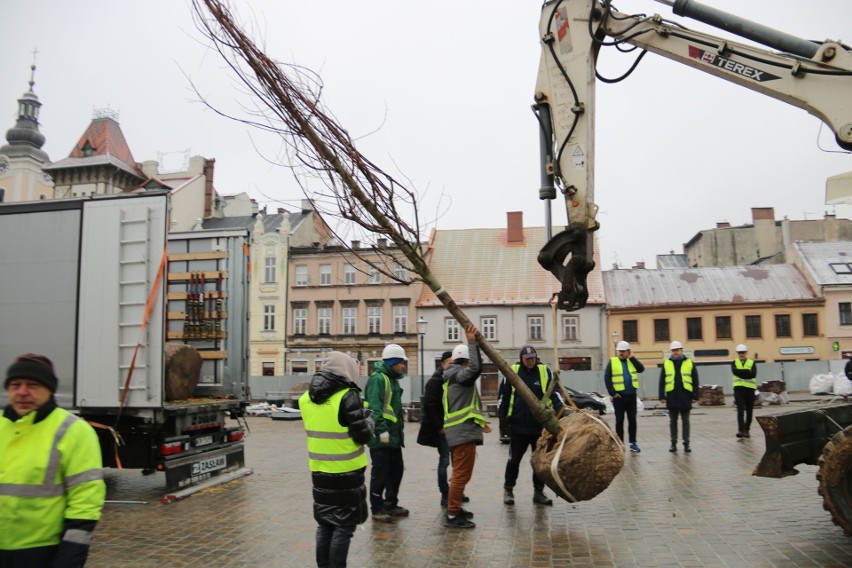
[[[50,163],[39,131],[41,101],[33,90],[35,61],[30,66],[30,88],[18,99],[15,126],[6,131],[7,144],[0,146],[0,202],[52,199],[53,180],[44,171]]]

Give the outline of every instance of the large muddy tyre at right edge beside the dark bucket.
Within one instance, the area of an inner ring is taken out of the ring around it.
[[[819,457],[819,494],[834,524],[852,536],[852,426],[834,435]]]

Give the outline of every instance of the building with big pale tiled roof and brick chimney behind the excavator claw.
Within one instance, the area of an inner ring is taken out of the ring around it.
[[[509,362],[518,360],[521,346],[531,344],[552,368],[557,358],[563,370],[603,368],[604,294],[597,250],[586,307],[554,313],[550,302],[561,285],[537,260],[545,228],[524,227],[521,212],[507,218],[504,228],[433,231],[428,251],[432,272]],[[463,330],[431,290],[423,288],[417,307],[429,322],[424,357],[430,363],[464,342]],[[482,392],[489,396],[496,393],[497,372],[490,363],[484,371]]]

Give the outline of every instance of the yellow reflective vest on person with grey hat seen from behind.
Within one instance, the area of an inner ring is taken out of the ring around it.
[[[352,389],[340,389],[322,404],[305,392],[299,398],[299,410],[308,434],[308,465],[311,471],[346,473],[367,467],[367,451],[349,435],[349,428],[338,420],[340,401]]]

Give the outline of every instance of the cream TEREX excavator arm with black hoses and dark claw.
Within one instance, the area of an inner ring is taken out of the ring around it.
[[[597,56],[602,47],[640,48],[805,109],[852,150],[852,50],[839,41],[812,42],[692,0],[657,0],[778,51],[697,32],[659,15],[618,12],[609,0],[550,0],[539,24],[541,61],[535,88],[540,125],[539,198],[562,194],[568,224],[551,235],[539,264],[562,283],[558,307],[582,308],[594,268],[594,121]],[[635,67],[635,64],[634,64]]]

